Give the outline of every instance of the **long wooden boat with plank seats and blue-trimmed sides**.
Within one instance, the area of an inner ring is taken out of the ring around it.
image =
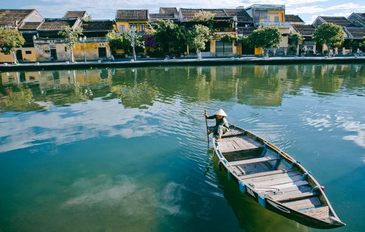
[[[213,146],[228,179],[261,206],[312,228],[346,225],[312,173],[265,139],[230,125]]]

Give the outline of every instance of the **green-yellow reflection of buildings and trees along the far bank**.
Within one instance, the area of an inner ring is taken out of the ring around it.
[[[303,87],[319,95],[336,93],[341,88],[363,88],[365,66],[232,65],[12,72],[1,73],[1,81],[4,86],[36,82],[38,85],[29,85],[32,100],[56,105],[118,97],[125,107],[137,108],[152,105],[156,100],[170,103],[176,98],[187,103],[211,99],[272,106],[281,105],[285,94],[300,94]],[[17,101],[25,102],[24,96]],[[19,105],[15,104],[14,110]],[[7,106],[7,110],[11,108]]]

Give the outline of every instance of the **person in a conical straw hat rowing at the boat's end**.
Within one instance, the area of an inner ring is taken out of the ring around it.
[[[215,135],[218,135],[218,139],[215,138],[215,140],[221,141],[222,140],[222,134],[226,133],[229,130],[229,124],[227,122],[227,114],[222,110],[219,109],[217,112],[214,113],[212,116],[208,116],[208,114],[204,114],[205,118],[207,119],[216,119],[216,126],[208,127],[207,134],[213,133]]]

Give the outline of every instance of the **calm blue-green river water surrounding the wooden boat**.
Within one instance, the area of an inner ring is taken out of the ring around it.
[[[333,231],[365,231],[365,65],[0,75],[1,232],[316,231],[219,172],[218,108],[313,172],[348,225]]]

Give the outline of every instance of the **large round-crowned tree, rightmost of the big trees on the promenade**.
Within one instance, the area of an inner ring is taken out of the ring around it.
[[[341,46],[344,41],[342,27],[332,23],[322,24],[316,28],[313,40],[318,44],[327,45],[329,57],[331,46]]]

